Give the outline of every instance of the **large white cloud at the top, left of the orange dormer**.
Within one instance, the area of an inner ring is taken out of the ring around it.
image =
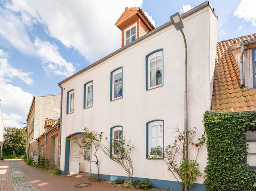
[[[47,33],[85,58],[97,61],[121,45],[115,26],[125,7],[140,7],[143,0],[12,0],[8,8],[26,13],[46,27]],[[100,6],[99,6],[100,5]],[[27,22],[29,23],[29,22]],[[32,23],[32,21],[31,21]]]

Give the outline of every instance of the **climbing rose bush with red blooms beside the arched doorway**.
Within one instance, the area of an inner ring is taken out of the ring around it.
[[[102,135],[104,132],[97,133],[95,131],[90,131],[86,127],[83,130],[85,131],[86,136],[84,136],[82,140],[79,140],[78,137],[71,135],[72,140],[74,140],[74,143],[76,143],[80,148],[83,148],[83,151],[87,150],[91,146],[94,146],[94,148],[95,148],[94,156],[95,156],[96,160],[91,160],[90,157],[87,157],[87,160],[90,162],[95,162],[95,164],[97,165],[97,168],[98,168],[98,177],[99,177],[99,160],[98,160],[98,156],[96,155],[96,153],[99,149]],[[69,138],[67,138],[67,139],[70,140]],[[83,151],[81,152],[81,154],[85,158],[86,156]]]

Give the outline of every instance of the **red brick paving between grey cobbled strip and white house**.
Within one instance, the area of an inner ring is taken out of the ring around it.
[[[93,183],[85,176],[55,176],[49,171],[28,166],[23,160],[18,160],[17,163],[26,179],[38,191],[138,191],[136,189],[124,188],[119,185],[111,185],[108,184],[107,181]],[[92,185],[85,188],[74,188],[74,185],[79,183],[91,183]]]

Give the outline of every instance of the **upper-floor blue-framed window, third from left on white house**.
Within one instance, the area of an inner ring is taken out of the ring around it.
[[[123,98],[123,67],[114,69],[110,75],[110,101]]]

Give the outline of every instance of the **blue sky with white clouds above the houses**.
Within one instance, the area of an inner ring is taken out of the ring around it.
[[[24,127],[36,95],[121,47],[115,26],[140,7],[155,27],[205,0],[0,0],[0,106],[5,126]],[[219,41],[256,33],[256,0],[210,0]]]

